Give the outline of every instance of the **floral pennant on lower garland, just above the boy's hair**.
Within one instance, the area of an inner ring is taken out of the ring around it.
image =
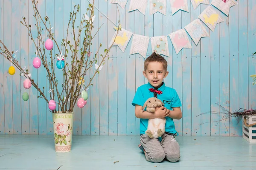
[[[151,48],[157,54],[163,54],[169,57],[167,36],[151,37]]]

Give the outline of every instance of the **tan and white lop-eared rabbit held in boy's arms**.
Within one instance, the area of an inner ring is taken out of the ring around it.
[[[146,108],[146,111],[154,113],[156,111],[155,108],[164,106],[163,102],[160,99],[157,99],[155,97],[149,98],[143,105],[143,111]],[[146,130],[146,134],[150,138],[158,138],[165,133],[165,124],[166,119],[148,119],[148,129]]]

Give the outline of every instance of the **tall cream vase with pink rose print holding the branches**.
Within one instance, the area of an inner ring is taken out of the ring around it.
[[[56,152],[70,152],[73,135],[73,112],[52,113],[54,143]]]

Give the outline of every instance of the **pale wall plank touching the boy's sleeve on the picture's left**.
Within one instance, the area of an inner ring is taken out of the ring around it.
[[[128,12],[128,8],[126,8],[126,29],[135,32],[135,12]],[[132,40],[132,39],[131,39]],[[131,42],[128,43],[127,49],[131,49]],[[136,88],[135,79],[135,55],[130,55],[130,50],[126,50],[126,114],[127,114],[127,135],[135,135],[136,130],[136,116],[135,116],[135,108],[131,105],[131,102],[134,99]]]

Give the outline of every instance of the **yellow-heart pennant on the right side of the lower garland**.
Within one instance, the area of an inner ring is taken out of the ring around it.
[[[207,27],[212,30],[215,30],[215,27],[218,23],[223,22],[223,18],[218,14],[219,11],[216,11],[212,6],[208,6],[198,18],[207,25]]]

